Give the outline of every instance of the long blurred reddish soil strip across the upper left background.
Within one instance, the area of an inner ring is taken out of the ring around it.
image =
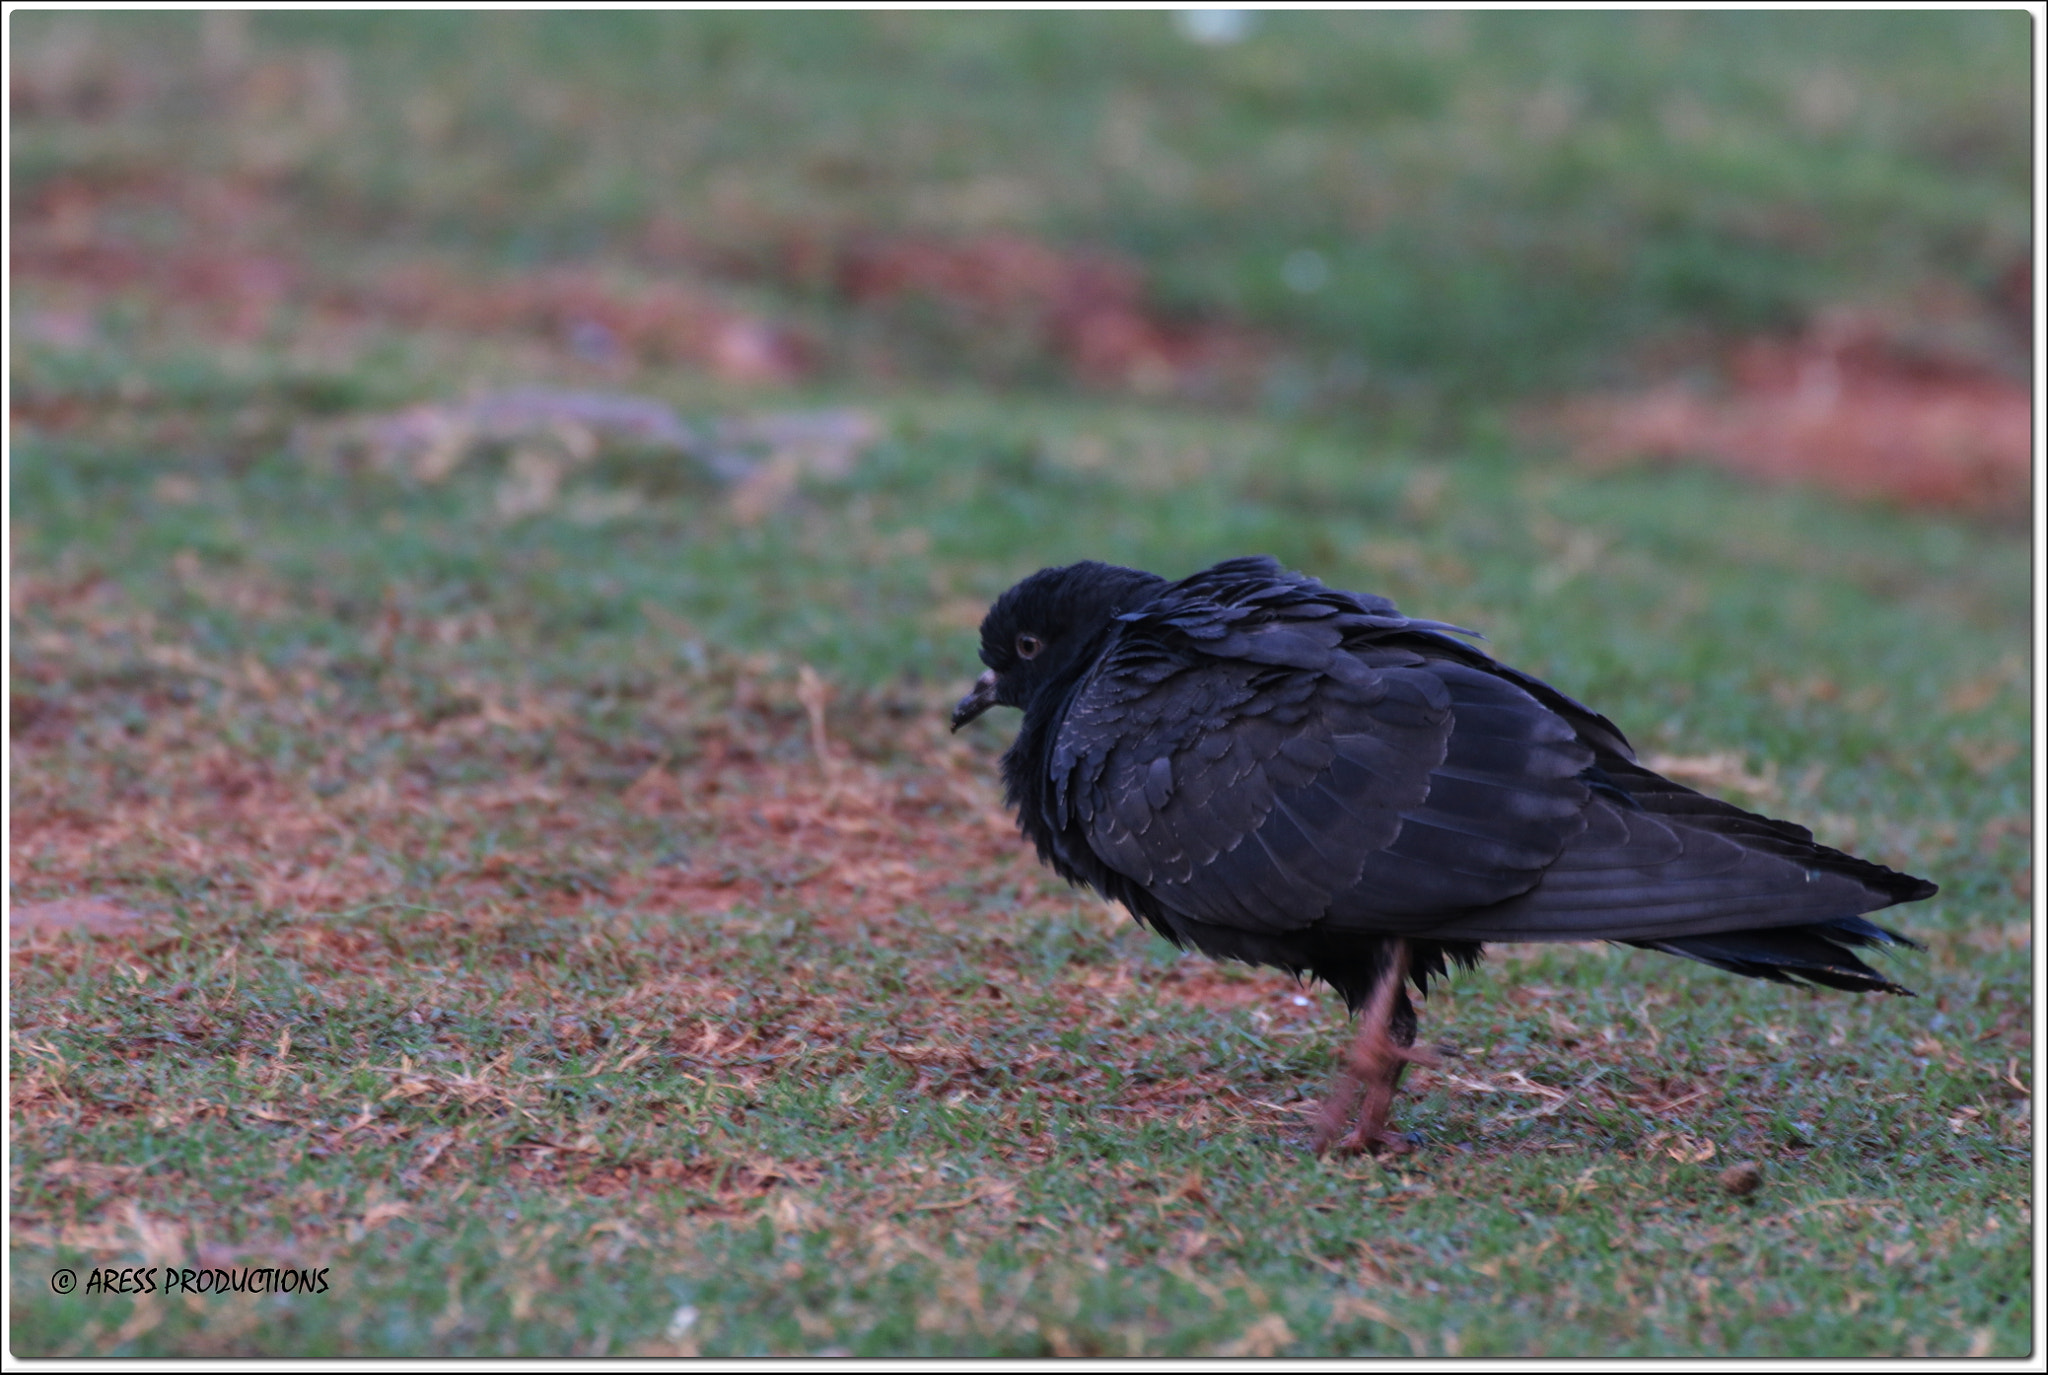
[[[147,242],[125,227],[166,217],[176,232]],[[596,363],[686,365],[741,383],[788,383],[834,361],[813,328],[725,299],[719,279],[823,289],[854,311],[895,311],[881,357],[836,361],[883,373],[899,371],[895,352],[930,336],[926,346],[942,344],[969,367],[1053,365],[1083,385],[1206,395],[1255,385],[1274,352],[1249,330],[1159,311],[1128,258],[1018,234],[764,230],[768,248],[735,252],[657,223],[631,260],[610,266],[481,275],[432,258],[336,270],[303,246],[293,219],[291,201],[252,178],[70,176],[16,209],[10,260],[18,281],[172,305],[180,326],[219,338],[254,342],[317,324],[541,336]],[[25,328],[76,346],[88,320],[41,311]]]

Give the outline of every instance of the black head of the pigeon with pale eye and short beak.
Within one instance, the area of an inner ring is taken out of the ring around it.
[[[1165,578],[1135,568],[1067,564],[1040,568],[997,596],[981,621],[989,670],[952,709],[952,730],[989,707],[1030,709],[1047,686],[1071,682],[1094,662],[1116,615],[1143,607],[1161,586]]]

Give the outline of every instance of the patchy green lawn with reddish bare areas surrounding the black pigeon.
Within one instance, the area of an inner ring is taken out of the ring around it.
[[[1354,18],[10,16],[12,1352],[2025,1357],[2023,533],[1516,412],[1991,283],[2023,20]],[[1341,1004],[944,727],[1247,551],[1935,879],[1919,998],[1495,949],[1317,1160]]]

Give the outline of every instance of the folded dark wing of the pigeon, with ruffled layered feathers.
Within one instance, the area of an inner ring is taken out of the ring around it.
[[[1059,723],[1047,822],[1239,930],[1427,930],[1528,891],[1583,828],[1573,727],[1425,654],[1450,627],[1243,564],[1124,617]]]

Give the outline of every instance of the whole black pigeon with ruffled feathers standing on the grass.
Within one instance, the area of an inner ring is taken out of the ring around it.
[[[1047,568],[989,609],[989,670],[952,725],[1024,711],[1004,785],[1061,877],[1174,945],[1364,1008],[1319,1150],[1405,1148],[1386,1111],[1427,1059],[1409,986],[1487,941],[1909,992],[1853,951],[1913,947],[1864,914],[1933,883],[1651,773],[1612,721],[1470,633],[1268,557],[1180,582]]]

